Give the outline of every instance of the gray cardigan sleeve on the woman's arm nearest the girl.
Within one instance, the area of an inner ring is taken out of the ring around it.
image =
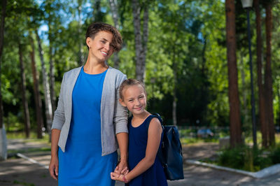
[[[125,76],[122,73],[121,77],[118,77],[116,80],[116,94],[115,94],[115,109],[114,109],[114,117],[113,117],[113,123],[116,124],[116,134],[120,132],[126,132],[128,133],[127,129],[127,108],[122,106],[118,99],[120,98],[118,91],[120,84],[123,83],[124,80],[127,79],[127,76]]]

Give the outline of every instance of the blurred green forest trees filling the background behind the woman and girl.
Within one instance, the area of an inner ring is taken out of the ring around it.
[[[160,113],[165,124],[179,127],[229,127],[231,123],[231,130],[237,127],[231,135],[237,137],[236,143],[241,143],[241,135],[251,135],[246,11],[240,1],[230,1],[229,6],[235,6],[231,24],[236,27],[232,28],[235,34],[230,36],[236,46],[232,45],[227,41],[228,2],[10,0],[6,6],[2,3],[0,127],[5,124],[8,132],[26,131],[27,137],[35,131],[38,138],[50,131],[63,73],[85,62],[85,29],[91,22],[102,21],[115,25],[124,41],[123,49],[108,64],[128,78],[144,81],[151,113]],[[274,144],[274,129],[280,126],[280,4],[255,0],[253,10],[257,129],[262,131],[262,145],[267,147]],[[235,57],[227,57],[227,47],[235,47]],[[234,67],[230,66],[232,62]],[[230,73],[235,73],[234,90],[229,83]],[[230,94],[234,94],[235,101],[232,102]],[[234,115],[230,111],[232,103],[237,103]]]

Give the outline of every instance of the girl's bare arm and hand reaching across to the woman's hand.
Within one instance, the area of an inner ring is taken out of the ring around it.
[[[150,122],[150,126],[148,128],[148,143],[146,148],[146,156],[142,159],[137,166],[134,167],[129,173],[125,175],[125,179],[123,175],[119,176],[116,173],[111,173],[111,178],[113,180],[120,181],[130,181],[133,178],[139,176],[141,173],[144,173],[148,170],[155,162],[155,157],[158,153],[158,148],[160,146],[160,139],[162,134],[162,125],[157,118],[153,118]]]

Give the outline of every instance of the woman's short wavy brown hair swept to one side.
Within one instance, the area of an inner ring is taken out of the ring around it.
[[[88,37],[94,39],[95,35],[99,31],[109,31],[113,34],[112,45],[113,45],[114,52],[118,52],[118,51],[120,51],[120,49],[122,49],[123,38],[120,35],[120,32],[115,27],[113,27],[111,24],[106,24],[104,22],[94,22],[94,23],[90,24],[90,26],[87,27],[87,33],[85,34],[85,40]],[[88,46],[87,46],[87,49],[88,49]]]

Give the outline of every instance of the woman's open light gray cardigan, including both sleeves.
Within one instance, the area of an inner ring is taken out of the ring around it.
[[[82,66],[64,73],[60,87],[57,110],[52,129],[61,130],[58,145],[65,152],[72,115],[72,92]],[[118,87],[127,77],[117,69],[109,67],[104,79],[101,99],[102,156],[115,152],[118,148],[116,134],[127,131],[127,110],[118,99]]]

